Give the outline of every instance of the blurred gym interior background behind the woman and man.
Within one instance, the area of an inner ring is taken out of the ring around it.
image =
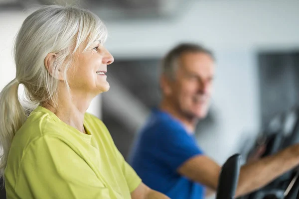
[[[0,90],[15,77],[12,46],[22,21],[53,2],[87,7],[107,25],[111,88],[88,111],[103,119],[125,158],[159,103],[160,59],[180,42],[203,44],[216,57],[212,105],[196,137],[219,164],[235,152],[246,157],[298,105],[299,0],[0,0]]]

